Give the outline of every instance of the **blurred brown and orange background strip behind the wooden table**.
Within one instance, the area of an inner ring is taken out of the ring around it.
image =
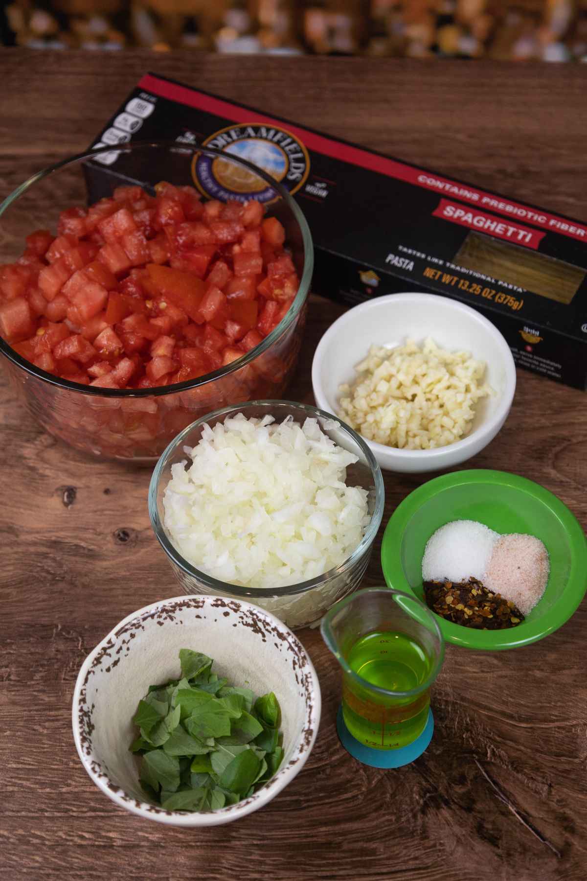
[[[587,0],[13,0],[2,41],[411,58],[587,61]]]

